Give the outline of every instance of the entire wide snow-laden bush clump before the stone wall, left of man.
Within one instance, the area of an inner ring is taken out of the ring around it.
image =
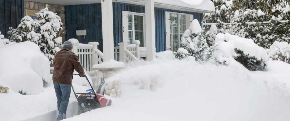
[[[62,46],[62,39],[58,37],[59,31],[63,23],[57,13],[48,10],[49,6],[36,13],[40,20],[33,20],[29,16],[21,19],[18,28],[9,28],[11,41],[22,42],[32,41],[40,47],[41,52],[53,64],[53,55]]]

